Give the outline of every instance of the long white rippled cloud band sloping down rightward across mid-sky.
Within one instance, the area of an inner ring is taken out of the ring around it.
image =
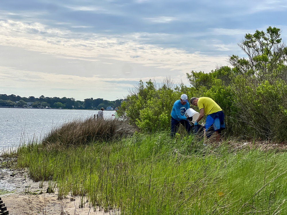
[[[65,58],[96,61],[99,57],[134,62],[144,66],[154,65],[177,71],[211,70],[217,63],[223,63],[224,56],[207,56],[187,53],[176,48],[162,48],[152,44],[139,43],[133,38],[116,38],[113,36],[73,34],[59,28],[49,29],[39,23],[22,23],[20,21],[0,21],[1,45],[21,47],[26,50],[59,55]],[[17,33],[17,37],[14,36]],[[134,56],[137,56],[136,58]]]

